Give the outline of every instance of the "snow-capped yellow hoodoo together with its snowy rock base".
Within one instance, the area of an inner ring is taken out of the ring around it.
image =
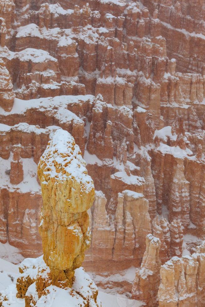
[[[40,158],[38,176],[43,196],[39,230],[44,256],[21,263],[13,294],[24,299],[26,307],[38,305],[42,297],[46,303],[59,291],[58,295],[66,295],[65,306],[100,307],[97,287],[80,268],[91,241],[87,210],[95,190],[80,148],[67,131],[55,132]],[[10,294],[0,294],[1,306],[9,302]]]

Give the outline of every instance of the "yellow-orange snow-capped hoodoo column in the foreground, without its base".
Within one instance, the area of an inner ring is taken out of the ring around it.
[[[94,200],[94,184],[74,138],[57,130],[40,158],[38,176],[43,207],[40,234],[44,261],[52,283],[71,286],[91,235],[87,210]]]

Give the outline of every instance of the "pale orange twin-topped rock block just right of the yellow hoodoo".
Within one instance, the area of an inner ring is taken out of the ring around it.
[[[140,263],[145,238],[151,232],[148,201],[144,195],[125,190],[118,194],[114,219],[106,210],[107,199],[97,191],[91,212],[92,243],[87,260],[135,260]]]

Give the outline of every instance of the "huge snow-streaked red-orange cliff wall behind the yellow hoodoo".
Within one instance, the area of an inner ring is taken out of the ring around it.
[[[85,266],[116,277],[148,234],[162,264],[205,239],[204,5],[87,2],[0,0],[0,241],[41,254],[36,169],[63,129],[99,191]]]

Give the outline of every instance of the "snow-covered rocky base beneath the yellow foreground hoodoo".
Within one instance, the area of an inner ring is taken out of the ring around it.
[[[82,267],[75,270],[72,287],[64,289],[51,284],[50,269],[46,266],[43,256],[25,259],[20,264],[19,271],[21,276],[18,278],[16,287],[11,284],[0,293],[0,305],[3,307],[101,307],[101,302],[97,298],[97,287]],[[21,285],[24,282],[24,290],[26,290],[24,298],[18,296],[19,281]],[[42,291],[43,284],[46,288]]]

